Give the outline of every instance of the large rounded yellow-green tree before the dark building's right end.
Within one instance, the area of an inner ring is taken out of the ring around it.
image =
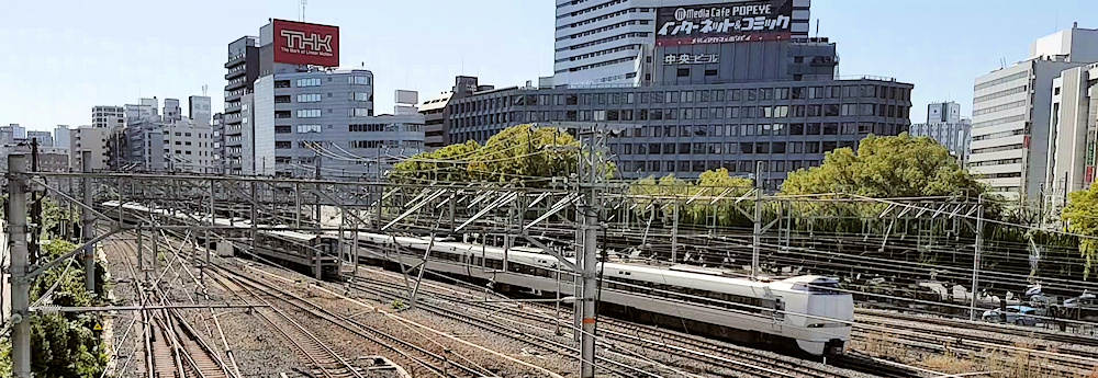
[[[855,153],[850,148],[827,152],[824,164],[789,173],[782,193],[789,195],[850,193],[869,197],[977,196],[976,182],[944,146],[907,133],[869,136]]]

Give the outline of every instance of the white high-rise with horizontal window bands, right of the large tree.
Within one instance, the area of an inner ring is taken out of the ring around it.
[[[976,78],[968,167],[994,192],[1038,201],[1049,180],[1053,80],[1098,57],[1098,31],[1042,37],[1029,59]]]

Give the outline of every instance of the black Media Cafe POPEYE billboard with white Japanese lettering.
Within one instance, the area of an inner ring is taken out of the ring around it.
[[[788,39],[793,0],[664,7],[656,13],[656,45]]]

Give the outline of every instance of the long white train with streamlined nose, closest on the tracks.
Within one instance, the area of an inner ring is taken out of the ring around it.
[[[556,257],[529,249],[473,245],[361,232],[360,259],[415,265],[430,245],[428,270],[496,290],[573,295],[573,275]],[[393,248],[393,244],[400,248]],[[395,251],[401,251],[400,253]],[[506,257],[504,255],[506,254]],[[717,339],[794,344],[810,355],[843,352],[853,323],[853,298],[838,280],[799,276],[775,282],[727,277],[721,271],[601,263],[601,309]]]

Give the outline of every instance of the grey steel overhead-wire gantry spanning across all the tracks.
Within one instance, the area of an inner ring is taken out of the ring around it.
[[[600,137],[594,131],[587,134],[587,138]],[[768,264],[773,266],[776,254],[803,249],[792,240],[794,233],[811,236],[813,227],[824,231],[826,222],[843,217],[866,225],[862,232],[883,234],[882,248],[889,243],[890,236],[905,238],[915,233],[919,238],[922,231],[959,232],[964,227],[983,226],[972,221],[981,216],[979,205],[964,198],[882,201],[839,193],[781,196],[766,195],[762,187],[684,186],[661,192],[607,180],[597,168],[598,151],[591,149],[580,156],[586,159],[580,167],[586,168],[579,174],[542,182],[539,186],[525,186],[522,182],[395,183],[189,174],[29,173],[22,154],[10,156],[5,177],[11,215],[8,233],[12,251],[11,323],[16,377],[27,377],[30,373],[27,319],[34,309],[27,303],[27,285],[35,275],[57,265],[54,261],[32,266],[25,260],[27,225],[23,215],[29,192],[44,193],[81,209],[83,244],[64,259],[83,253],[86,262],[89,256],[94,259],[96,242],[134,228],[186,230],[192,236],[205,234],[206,240],[221,230],[245,230],[251,232],[254,241],[260,227],[277,225],[281,230],[340,231],[340,236],[345,234],[343,231],[362,230],[458,237],[503,247],[505,253],[515,245],[537,248],[554,256],[562,270],[583,283],[576,287],[574,324],[576,342],[583,351],[582,376],[594,375],[596,366],[595,293],[600,260],[739,267],[742,264],[735,261],[736,255],[750,255],[751,264],[744,275],[759,276]],[[117,202],[119,206],[101,206],[105,202]],[[150,217],[139,225],[126,225],[121,221],[122,204],[181,211],[192,222],[168,226]],[[867,208],[875,213],[840,215],[813,208],[833,204],[872,205]],[[687,214],[693,216],[692,224],[680,225]],[[740,217],[749,228],[739,229],[735,221],[730,224],[728,219],[735,217]],[[215,219],[227,220],[228,226],[215,224]],[[110,231],[97,234],[96,224],[109,225]],[[979,245],[975,248],[978,253]],[[345,262],[357,262],[357,254],[339,256]],[[193,263],[200,268],[209,264],[209,252]],[[501,271],[507,272],[506,259],[503,264]],[[403,273],[416,268],[417,277],[410,282],[418,285],[425,266],[408,267]],[[977,271],[978,265],[974,276]],[[90,279],[88,285],[93,287]],[[413,306],[416,289],[410,290]]]

